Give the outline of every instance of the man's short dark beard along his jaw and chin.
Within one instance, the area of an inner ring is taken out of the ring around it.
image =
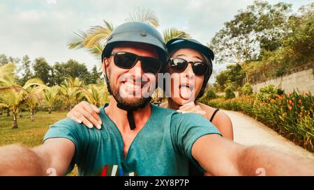
[[[117,101],[118,104],[121,104],[125,107],[128,107],[128,108],[133,108],[133,109],[137,109],[137,108],[140,108],[140,107],[144,107],[145,105],[147,105],[150,101],[151,101],[151,96],[149,97],[134,97],[133,100],[135,101],[129,101],[128,98],[124,98],[120,95],[119,93],[119,88],[117,86],[115,86],[110,78],[111,77],[111,73],[110,73],[110,70],[109,70],[109,84],[110,84],[110,89],[112,91],[112,96],[114,97],[114,100]]]

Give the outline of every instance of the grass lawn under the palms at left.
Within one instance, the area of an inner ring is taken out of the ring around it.
[[[43,137],[49,129],[49,126],[66,118],[67,112],[56,111],[51,114],[39,111],[34,115],[34,121],[31,122],[30,113],[23,112],[22,118],[17,116],[17,129],[12,128],[12,116],[6,116],[3,113],[0,116],[0,146],[9,144],[24,145],[33,148],[41,145]],[[69,175],[77,175],[77,168]]]

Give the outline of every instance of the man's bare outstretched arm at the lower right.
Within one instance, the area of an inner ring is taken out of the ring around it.
[[[314,175],[314,161],[262,146],[247,147],[217,134],[198,138],[192,155],[213,175]]]

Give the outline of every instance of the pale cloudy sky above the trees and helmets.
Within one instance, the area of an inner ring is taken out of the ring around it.
[[[271,4],[278,2],[269,0]],[[292,3],[297,10],[313,1],[283,2]],[[103,24],[103,19],[117,26],[135,8],[149,8],[158,16],[160,32],[176,27],[206,44],[224,22],[252,3],[253,0],[0,0],[0,54],[20,58],[27,54],[31,59],[43,56],[50,64],[74,58],[91,69],[100,65],[96,58],[84,50],[70,50],[66,45],[74,31]]]

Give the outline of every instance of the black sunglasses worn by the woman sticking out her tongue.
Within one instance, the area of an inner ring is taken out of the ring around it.
[[[193,72],[197,76],[204,76],[209,69],[209,66],[202,61],[186,61],[183,58],[170,58],[169,61],[170,68],[175,72],[184,72],[188,67],[188,63],[192,64]]]

